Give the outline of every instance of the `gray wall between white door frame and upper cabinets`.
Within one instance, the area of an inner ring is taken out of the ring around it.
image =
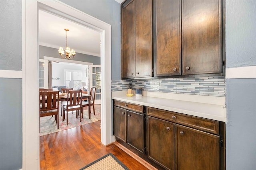
[[[90,16],[111,25],[111,76],[121,79],[121,29],[120,4],[114,0],[61,0]]]

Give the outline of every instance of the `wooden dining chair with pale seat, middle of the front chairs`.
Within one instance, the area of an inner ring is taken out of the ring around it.
[[[62,105],[62,121],[65,119],[65,112],[67,115],[67,125],[68,125],[68,111],[76,111],[76,118],[78,117],[78,112],[82,109],[82,90],[68,90],[67,103]],[[82,118],[80,116],[80,121]]]

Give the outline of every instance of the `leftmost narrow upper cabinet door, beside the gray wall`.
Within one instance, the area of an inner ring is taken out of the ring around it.
[[[134,1],[122,8],[122,78],[135,76]]]

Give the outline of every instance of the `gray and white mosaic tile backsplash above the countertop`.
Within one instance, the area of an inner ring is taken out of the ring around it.
[[[225,97],[226,91],[225,76],[151,80],[112,80],[112,91],[127,90],[129,83],[132,83],[132,88],[140,87],[144,91],[151,92]]]

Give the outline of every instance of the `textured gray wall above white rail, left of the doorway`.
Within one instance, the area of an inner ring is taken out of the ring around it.
[[[0,69],[22,70],[21,1],[0,0]]]

